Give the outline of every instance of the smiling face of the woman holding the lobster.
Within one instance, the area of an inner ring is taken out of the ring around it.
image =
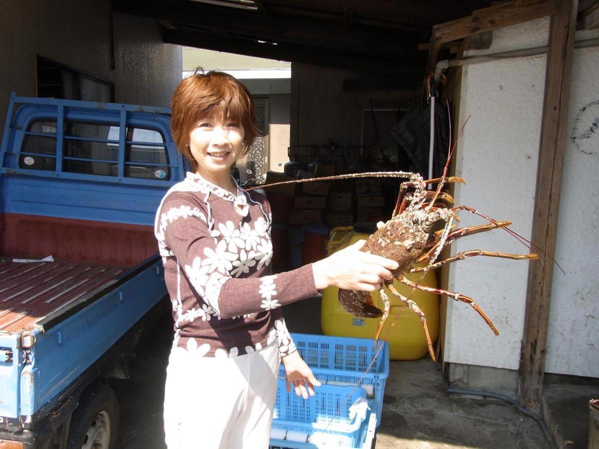
[[[199,174],[229,174],[243,148],[244,129],[232,120],[201,117],[189,133],[189,149]]]

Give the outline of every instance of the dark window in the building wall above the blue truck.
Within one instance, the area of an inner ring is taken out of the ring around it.
[[[113,83],[41,56],[37,56],[37,87],[42,98],[114,102]]]

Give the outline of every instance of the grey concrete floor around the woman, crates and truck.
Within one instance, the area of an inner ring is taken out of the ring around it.
[[[319,299],[286,306],[291,332],[320,333],[319,310]],[[119,448],[165,448],[162,400],[171,335],[169,318],[158,323],[138,347],[131,379],[113,384],[120,403]],[[550,447],[533,418],[514,406],[448,395],[440,365],[428,357],[391,362],[390,371],[377,449]]]

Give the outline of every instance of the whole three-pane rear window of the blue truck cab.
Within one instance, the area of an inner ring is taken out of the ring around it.
[[[119,138],[119,125],[66,120],[62,171],[118,176]],[[167,145],[161,132],[128,126],[124,151],[124,177],[170,180]],[[35,120],[29,124],[23,138],[19,166],[34,170],[56,170],[56,120]]]

